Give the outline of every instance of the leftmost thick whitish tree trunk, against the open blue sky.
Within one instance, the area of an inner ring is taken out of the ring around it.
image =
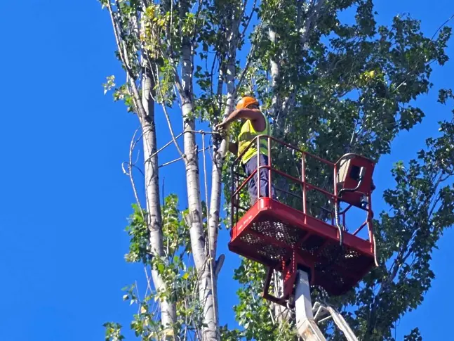
[[[154,124],[154,101],[152,99],[153,82],[149,67],[144,63],[142,81],[142,105],[146,112],[140,124],[143,132],[143,150],[145,157],[145,195],[147,200],[147,226],[149,229],[149,245],[153,257],[161,257],[163,252],[161,206],[159,204],[159,171],[158,155],[156,154],[156,126]],[[152,156],[153,155],[153,156]],[[153,283],[157,291],[166,290],[166,283],[156,269],[152,269]],[[161,302],[161,323],[169,329],[175,323],[175,303]]]

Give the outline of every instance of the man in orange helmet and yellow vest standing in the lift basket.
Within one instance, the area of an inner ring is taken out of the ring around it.
[[[257,169],[257,163],[260,165],[268,165],[268,143],[267,139],[260,139],[260,153],[257,153],[257,140],[254,138],[258,135],[270,135],[269,122],[265,114],[260,111],[258,101],[250,96],[245,96],[236,105],[234,110],[224,122],[218,124],[215,129],[229,130],[229,126],[232,122],[241,120],[243,125],[238,136],[238,142],[229,143],[230,153],[234,153],[238,156],[243,153],[249,145],[252,146],[246,150],[241,156],[241,164],[246,172],[246,176],[250,176],[255,169]],[[257,160],[259,157],[259,160]],[[258,161],[258,162],[257,162]],[[251,205],[254,205],[257,201],[257,176],[253,176],[248,182],[248,191],[251,198]],[[268,169],[260,169],[260,197],[270,196],[268,193]],[[274,188],[272,187],[272,197],[274,197]]]

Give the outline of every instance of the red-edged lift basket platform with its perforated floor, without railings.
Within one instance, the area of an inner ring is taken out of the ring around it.
[[[338,229],[324,221],[260,198],[232,229],[229,250],[279,269],[293,250],[314,268],[314,285],[342,295],[374,266],[373,245],[347,232],[340,247]]]

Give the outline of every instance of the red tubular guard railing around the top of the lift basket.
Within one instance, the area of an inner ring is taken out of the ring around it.
[[[267,164],[268,165],[260,165],[260,141],[266,140],[267,141]],[[257,148],[257,168],[254,170],[252,174],[249,176],[243,176],[241,172],[236,172],[236,168],[240,168],[240,162],[241,162],[241,157],[246,153],[246,151],[253,146],[253,143],[256,143],[256,148]],[[291,176],[290,174],[286,174],[286,172],[282,172],[279,169],[276,169],[273,167],[273,158],[272,158],[272,143],[276,143],[278,146],[288,148],[288,150],[292,150],[293,154],[300,153],[301,155],[301,172],[300,172],[300,179],[296,178],[295,176]],[[314,184],[309,184],[307,181],[307,165],[310,164],[309,160],[306,159],[311,159],[311,160],[316,160],[317,162],[323,163],[323,165],[326,165],[333,169],[333,191],[331,192],[329,188],[320,188],[319,186],[315,186]],[[338,162],[330,162],[328,160],[323,160],[321,157],[318,157],[316,155],[312,155],[310,153],[305,152],[304,150],[301,150],[300,148],[297,148],[295,146],[291,146],[288,143],[285,143],[283,141],[279,141],[278,139],[275,139],[272,136],[267,136],[267,135],[260,135],[256,136],[253,141],[249,144],[248,148],[243,150],[241,155],[236,157],[236,160],[234,160],[232,167],[231,167],[231,176],[232,176],[232,188],[231,188],[231,216],[230,216],[230,221],[231,221],[231,226],[233,227],[236,222],[239,220],[239,210],[248,210],[248,207],[240,207],[239,206],[239,195],[241,191],[243,191],[246,188],[246,184],[248,184],[251,179],[253,179],[254,176],[256,176],[256,187],[257,187],[257,198],[259,199],[261,196],[260,195],[260,169],[267,169],[268,171],[268,194],[271,195],[272,189],[276,189],[276,191],[282,191],[285,192],[289,195],[293,195],[296,198],[300,198],[301,200],[301,205],[300,208],[297,208],[298,210],[302,211],[305,214],[305,219],[307,215],[310,215],[311,217],[312,214],[309,212],[309,209],[307,207],[307,201],[308,201],[308,191],[316,191],[318,193],[323,194],[326,198],[328,198],[329,201],[332,202],[332,207],[336,207],[337,205],[340,205],[340,202],[342,202],[342,199],[338,196],[339,193],[339,188],[338,188],[338,181],[337,181],[337,173],[338,173]],[[302,188],[302,195],[297,195],[296,193],[289,193],[288,191],[283,190],[282,188],[277,188],[276,186],[273,186],[273,175],[274,174],[279,174],[280,176],[283,176],[285,179],[293,181],[296,184],[299,184],[300,187]],[[241,184],[239,184],[239,178],[240,177],[246,177],[245,180]],[[357,228],[353,235],[357,235],[365,226],[368,226],[368,240],[370,243],[374,244],[374,238],[373,238],[373,226],[372,226],[372,217],[373,217],[373,212],[371,209],[371,196],[370,193],[366,195],[368,199],[368,205],[366,208],[359,208],[360,210],[363,210],[366,212],[366,220]],[[276,198],[274,198],[276,200]],[[280,200],[278,200],[280,201]],[[282,202],[283,204],[286,204],[286,202]],[[352,205],[348,205],[344,210],[338,212],[340,221],[342,221],[342,229],[345,231],[345,226],[346,226],[346,213],[349,212],[349,210],[352,208]],[[321,210],[325,210],[328,214],[331,214],[331,224],[335,227],[335,212],[334,208],[331,210],[328,210],[326,208],[320,207]],[[314,217],[316,219],[319,219],[318,217]],[[339,236],[340,237],[340,236]],[[374,245],[372,245],[374,247]]]

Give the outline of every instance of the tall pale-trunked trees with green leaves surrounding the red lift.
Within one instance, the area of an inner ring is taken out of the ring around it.
[[[241,283],[234,314],[242,328],[222,326],[226,312],[218,311],[217,278],[224,255],[217,257],[216,249],[220,226],[231,227],[220,220],[220,197],[223,182],[229,199],[229,173],[222,169],[231,165],[232,155],[225,154],[227,141],[213,135],[212,186],[203,200],[198,122],[214,127],[236,98],[254,94],[277,138],[328,160],[359,153],[380,162],[399,132],[424,120],[418,98],[432,89],[433,65],[448,60],[450,28],[427,37],[410,15],[378,25],[372,0],[100,3],[112,18],[116,56],[126,74],[120,86],[107,77],[105,90],[113,89],[114,100],[137,115],[145,155],[146,204],[135,191],[126,260],[145,264],[149,287],[126,288],[124,300],[138,304],[131,328],[140,340],[291,340],[292,312],[281,318],[282,311],[260,298],[265,269],[246,259],[234,276]],[[351,18],[342,15],[346,12]],[[449,104],[453,97],[450,89],[441,90],[439,102]],[[186,210],[176,195],[160,203],[156,108],[166,115],[185,163]],[[180,108],[183,148],[172,129],[171,108]],[[388,209],[375,212],[380,266],[342,297],[313,292],[344,312],[361,340],[394,340],[396,321],[429,290],[432,250],[454,223],[454,121],[439,124],[439,135],[427,139],[425,149],[391,170],[394,184],[383,195]],[[238,129],[234,124],[232,136]],[[131,155],[137,144],[131,143]],[[295,172],[289,153],[276,153],[274,160],[279,169]],[[135,167],[130,157],[126,172],[134,190]],[[331,186],[323,172],[309,175]],[[106,340],[122,339],[118,323],[105,326]],[[330,325],[326,333],[342,340]],[[420,337],[415,328],[405,340]]]

